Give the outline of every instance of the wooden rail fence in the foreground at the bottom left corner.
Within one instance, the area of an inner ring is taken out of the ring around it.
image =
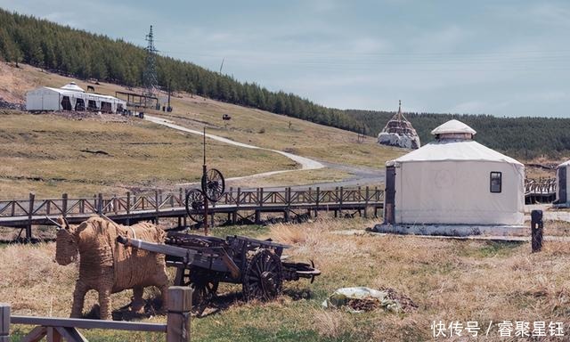
[[[0,342],[10,341],[10,324],[35,325],[25,342],[47,338],[48,342],[85,342],[77,329],[156,331],[166,333],[167,342],[190,341],[191,289],[173,286],[168,289],[167,323],[114,322],[69,318],[32,317],[10,314],[10,305],[0,304]]]

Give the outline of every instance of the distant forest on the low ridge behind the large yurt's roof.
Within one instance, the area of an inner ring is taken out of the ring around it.
[[[394,112],[346,110],[371,133],[378,134]],[[497,118],[491,115],[404,113],[422,144],[434,141],[431,131],[452,118],[477,131],[476,141],[517,158],[541,155],[570,158],[570,118]],[[373,134],[372,134],[373,135]]]

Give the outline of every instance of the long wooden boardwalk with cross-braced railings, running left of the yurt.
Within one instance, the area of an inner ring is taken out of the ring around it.
[[[102,194],[86,199],[69,198],[67,194],[58,199],[36,199],[33,193],[28,199],[0,200],[0,226],[20,228],[26,232],[26,239],[32,238],[33,225],[52,225],[47,218],[59,216],[67,218],[69,223],[77,224],[90,216],[103,213],[118,223],[134,224],[138,221],[159,222],[162,217],[178,218],[178,226],[186,226],[185,191],[154,191],[125,196],[106,197]],[[338,215],[358,213],[367,217],[369,210],[378,216],[378,209],[383,208],[384,191],[377,187],[334,190],[308,188],[291,190],[283,188],[277,191],[265,191],[264,188],[241,190],[230,188],[215,204],[210,203],[208,215],[225,214],[233,224],[239,221],[259,223],[263,213],[282,214],[285,221],[297,216],[318,216],[320,211],[334,212]],[[198,214],[198,213],[196,213]]]

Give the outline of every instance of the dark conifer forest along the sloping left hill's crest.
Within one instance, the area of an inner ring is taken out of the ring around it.
[[[84,79],[140,86],[145,55],[145,49],[122,39],[113,40],[0,9],[0,58],[4,61],[24,62]],[[360,126],[341,110],[325,108],[295,94],[270,92],[255,83],[240,83],[191,62],[158,56],[157,74],[163,88],[171,81],[175,91],[347,130],[355,131]]]

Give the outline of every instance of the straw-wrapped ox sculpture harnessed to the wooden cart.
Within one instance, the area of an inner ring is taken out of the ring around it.
[[[82,315],[85,293],[90,289],[99,292],[102,320],[111,319],[111,293],[124,289],[133,289],[134,312],[143,310],[142,291],[147,286],[158,287],[163,305],[167,303],[165,256],[116,242],[120,235],[164,243],[165,232],[159,227],[149,223],[123,226],[101,217],[91,217],[75,226],[59,218],[58,224],[61,229],[57,232],[55,260],[59,265],[69,265],[79,256],[71,317]]]

